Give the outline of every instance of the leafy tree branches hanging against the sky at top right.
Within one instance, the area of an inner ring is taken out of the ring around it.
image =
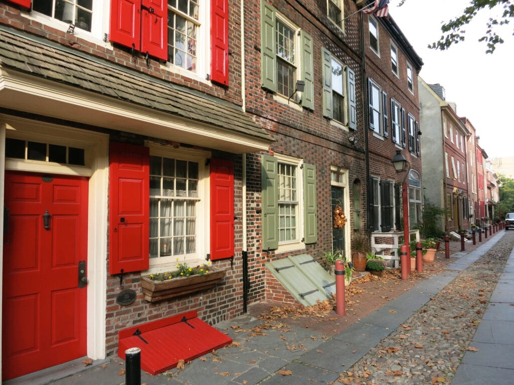
[[[399,6],[405,3],[406,0],[401,0]],[[413,1],[413,0],[411,0]],[[498,44],[502,44],[503,38],[498,35],[494,29],[503,25],[509,24],[509,19],[514,17],[514,5],[512,0],[470,0],[469,6],[466,7],[460,16],[452,18],[447,23],[441,26],[443,35],[435,43],[429,44],[429,48],[439,49],[444,51],[452,44],[457,44],[464,41],[466,26],[473,20],[473,18],[483,9],[493,14],[493,10],[502,7],[499,18],[489,17],[486,23],[486,30],[484,36],[479,39],[479,42],[486,44],[486,53],[493,53]]]

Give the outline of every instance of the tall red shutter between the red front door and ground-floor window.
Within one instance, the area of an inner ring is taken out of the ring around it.
[[[111,143],[109,273],[149,267],[150,150]]]

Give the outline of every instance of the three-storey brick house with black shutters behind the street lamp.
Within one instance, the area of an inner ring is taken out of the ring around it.
[[[402,194],[408,196],[409,228],[421,220],[421,127],[418,85],[415,81],[423,61],[407,41],[393,18],[366,15],[365,89],[368,114],[365,118],[368,147],[368,229],[375,244],[402,244],[392,234],[403,231]],[[396,154],[408,169],[396,172]],[[402,183],[406,191],[402,192]],[[374,247],[384,256],[396,248]],[[395,255],[398,260],[398,255]],[[397,264],[397,263],[396,263]]]

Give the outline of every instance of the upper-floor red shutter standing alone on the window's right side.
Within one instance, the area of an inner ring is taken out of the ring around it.
[[[228,86],[228,0],[211,0],[211,81]]]

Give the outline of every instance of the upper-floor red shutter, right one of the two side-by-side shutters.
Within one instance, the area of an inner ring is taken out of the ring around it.
[[[142,5],[141,52],[168,60],[168,3],[166,0],[142,0]]]

